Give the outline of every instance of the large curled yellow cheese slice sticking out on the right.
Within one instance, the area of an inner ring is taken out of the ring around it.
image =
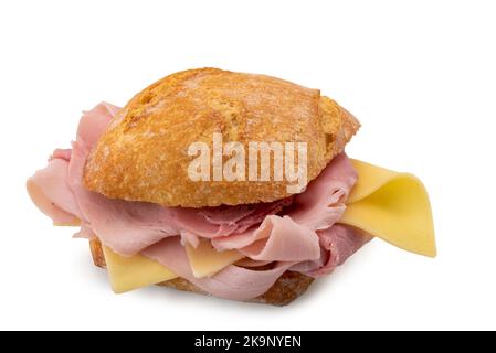
[[[359,178],[339,222],[404,250],[434,257],[434,225],[422,182],[412,174],[351,161]]]

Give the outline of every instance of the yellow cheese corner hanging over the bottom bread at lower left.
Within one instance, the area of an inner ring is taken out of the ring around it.
[[[116,293],[156,285],[177,276],[161,264],[143,255],[124,257],[103,246],[112,289]]]

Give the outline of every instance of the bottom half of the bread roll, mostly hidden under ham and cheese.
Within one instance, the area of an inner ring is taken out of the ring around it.
[[[89,240],[89,249],[92,252],[93,261],[95,263],[95,265],[105,268],[105,257],[99,240]],[[313,281],[314,279],[312,277],[294,271],[286,271],[265,293],[250,301],[272,306],[286,306],[302,296],[308,289]],[[201,295],[209,295],[190,281],[180,277],[158,284],[158,286],[171,287],[179,290],[192,291]]]

